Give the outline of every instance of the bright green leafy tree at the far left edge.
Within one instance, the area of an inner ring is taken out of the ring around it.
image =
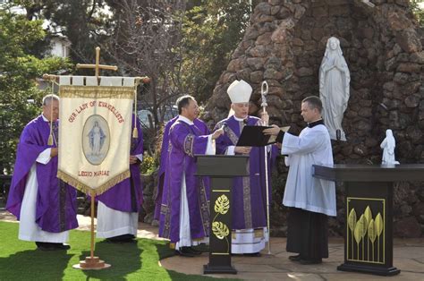
[[[65,69],[64,60],[40,59],[30,50],[45,38],[42,21],[0,10],[0,173],[11,173],[21,130],[39,113],[43,91],[37,77]]]

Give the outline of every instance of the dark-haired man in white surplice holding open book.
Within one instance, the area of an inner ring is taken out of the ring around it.
[[[284,133],[276,125],[264,131],[278,136],[281,154],[287,156],[285,163],[290,166],[283,199],[284,206],[289,207],[286,250],[299,253],[289,259],[301,264],[317,264],[328,258],[327,216],[336,216],[335,183],[312,176],[313,165],[333,165],[321,110],[318,97],[305,98],[301,115],[308,127],[299,136]]]

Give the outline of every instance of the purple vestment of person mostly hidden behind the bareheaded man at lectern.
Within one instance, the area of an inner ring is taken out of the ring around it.
[[[159,170],[157,171],[157,190],[156,190],[156,196],[155,196],[155,215],[154,219],[159,220],[160,218],[160,206],[162,204],[162,196],[163,196],[163,190],[164,190],[164,180],[165,180],[165,166],[166,166],[166,159],[168,155],[168,147],[169,147],[169,129],[171,126],[175,123],[175,121],[178,119],[178,116],[174,117],[173,119],[169,120],[164,128],[164,134],[162,137],[162,145],[160,149],[160,164],[159,164]],[[199,131],[202,135],[208,134],[208,125],[204,123],[203,121],[199,119],[194,119],[193,123],[198,127]]]

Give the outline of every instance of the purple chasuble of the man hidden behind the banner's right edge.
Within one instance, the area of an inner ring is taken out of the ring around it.
[[[131,122],[131,150],[130,155],[143,154],[143,132],[139,118],[137,121],[138,138],[132,138],[132,129],[134,128],[134,115]],[[103,194],[98,195],[97,199],[110,209],[122,212],[139,212],[143,203],[143,189],[140,179],[140,162],[130,165],[131,176],[111,187]]]

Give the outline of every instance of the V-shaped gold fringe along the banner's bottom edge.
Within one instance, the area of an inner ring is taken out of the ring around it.
[[[129,178],[131,176],[130,170],[126,170],[123,173],[119,175],[115,175],[112,179],[107,181],[106,183],[103,183],[98,188],[93,189],[90,188],[89,185],[81,183],[79,180],[75,179],[72,175],[68,175],[64,171],[58,170],[57,171],[57,177],[63,180],[65,183],[68,183],[78,189],[81,192],[84,192],[88,195],[91,195],[91,192],[95,192],[96,195],[100,195],[103,192],[106,192],[108,189],[116,185],[117,183],[121,183],[123,180]]]

